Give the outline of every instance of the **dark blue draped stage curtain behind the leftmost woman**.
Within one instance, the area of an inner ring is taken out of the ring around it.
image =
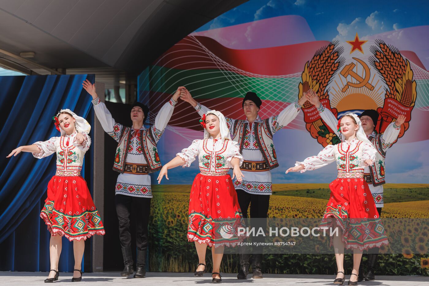
[[[0,259],[1,271],[48,271],[49,238],[39,213],[48,181],[55,173],[55,154],[36,159],[28,152],[6,156],[16,147],[59,136],[52,117],[69,108],[94,122],[91,96],[82,88],[94,75],[0,76]],[[92,137],[91,131],[90,136]],[[93,151],[85,155],[82,176],[92,194]],[[89,160],[89,161],[88,161]],[[91,244],[82,261],[91,266]],[[63,238],[59,270],[73,271],[73,243]],[[82,268],[85,270],[85,268]],[[89,270],[89,268],[88,268]]]

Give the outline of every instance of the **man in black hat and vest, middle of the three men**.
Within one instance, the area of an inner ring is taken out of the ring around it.
[[[181,99],[189,102],[200,116],[210,109],[194,100],[187,89],[181,90]],[[290,104],[278,115],[261,119],[258,115],[261,99],[254,92],[248,92],[242,103],[245,120],[226,118],[232,139],[239,143],[240,153],[244,161],[240,169],[244,179],[234,181],[243,218],[248,217],[250,204],[251,218],[266,218],[269,198],[272,194],[271,169],[278,167],[272,136],[288,125],[298,115],[301,105],[307,100],[301,97]],[[253,227],[253,225],[252,225]],[[266,229],[266,224],[260,225]],[[259,229],[258,225],[255,229]],[[247,279],[250,254],[240,255],[238,279]],[[262,254],[252,255],[253,278],[262,278]]]

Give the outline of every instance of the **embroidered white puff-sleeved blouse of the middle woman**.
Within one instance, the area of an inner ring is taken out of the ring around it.
[[[243,163],[238,143],[227,139],[193,140],[192,144],[176,154],[185,160],[183,167],[189,167],[198,156],[199,170],[202,175],[223,176],[232,168],[231,160],[239,158]]]

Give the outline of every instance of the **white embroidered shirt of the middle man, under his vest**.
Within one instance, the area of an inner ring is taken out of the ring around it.
[[[197,104],[195,106],[195,110],[198,111],[198,114],[202,116],[205,114],[208,109],[206,106]],[[269,127],[271,128],[271,132],[274,135],[275,132],[279,131],[281,128],[288,125],[292,122],[293,119],[298,115],[301,110],[301,106],[296,101],[295,103],[291,103],[284,110],[282,110],[278,115],[271,116],[269,118]],[[225,118],[227,120],[228,128],[230,129],[231,137],[234,137],[234,124],[237,119]],[[248,123],[246,119],[245,122]],[[263,120],[257,116],[254,122],[263,122]],[[257,138],[255,137],[253,124],[248,124],[248,132],[244,140],[242,156],[246,161],[265,161],[262,152],[260,151],[257,145]],[[236,189],[242,189],[245,192],[256,195],[272,195],[272,180],[271,180],[271,172],[263,171],[263,172],[250,172],[242,170],[244,175],[244,179],[241,183],[237,180],[234,181],[234,186]]]

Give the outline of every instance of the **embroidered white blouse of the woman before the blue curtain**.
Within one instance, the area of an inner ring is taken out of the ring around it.
[[[39,147],[39,153],[32,153],[35,158],[45,158],[54,153],[57,154],[56,176],[80,176],[83,157],[91,146],[91,137],[82,133],[85,140],[79,144],[76,140],[76,132],[61,137],[51,137],[47,141],[33,143]],[[76,141],[75,141],[76,140]]]

